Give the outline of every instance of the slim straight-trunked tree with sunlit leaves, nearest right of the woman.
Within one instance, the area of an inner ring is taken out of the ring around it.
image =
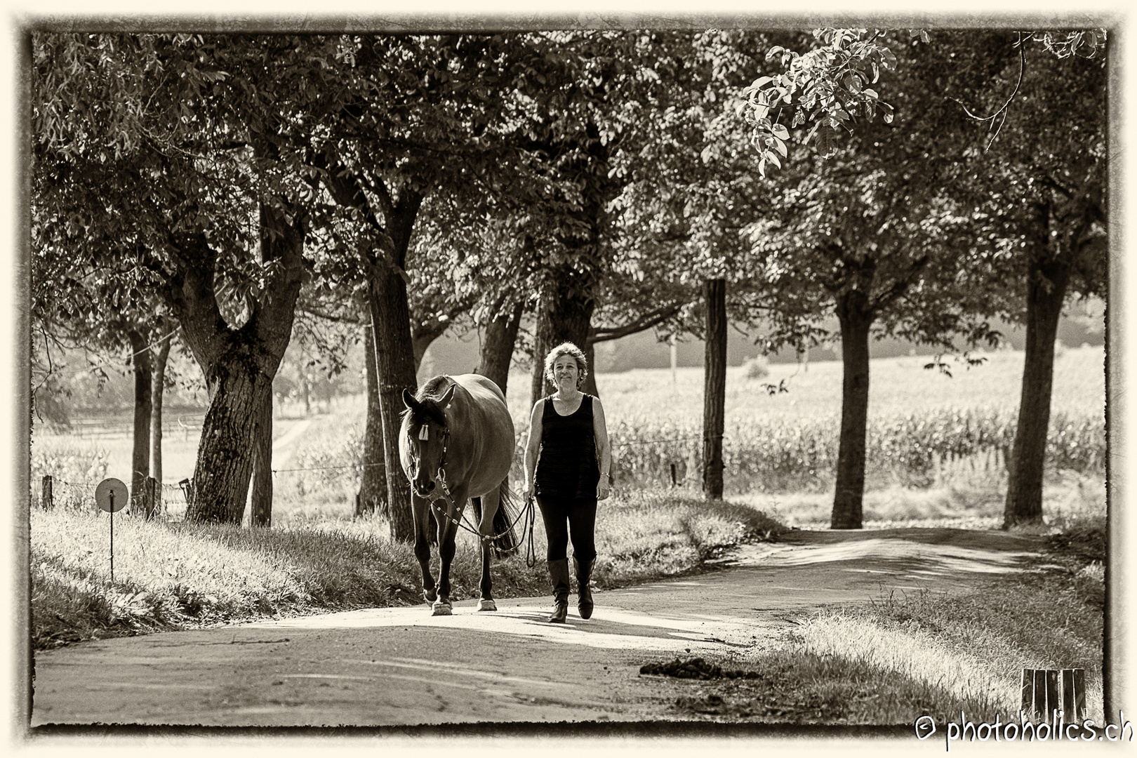
[[[747,51],[767,44],[764,34],[738,31],[667,40],[655,69],[665,85],[650,93],[644,148],[619,167],[630,180],[616,201],[619,266],[659,306],[665,333],[706,341],[703,486],[711,499],[723,493],[727,323],[754,318],[745,232],[765,202],[733,106],[756,64]]]

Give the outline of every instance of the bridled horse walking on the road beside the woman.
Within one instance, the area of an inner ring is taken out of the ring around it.
[[[423,598],[433,616],[449,616],[454,538],[466,500],[472,499],[482,543],[478,610],[497,610],[491,593],[490,551],[509,553],[518,541],[509,491],[513,418],[498,385],[479,374],[435,376],[415,395],[402,391],[399,461],[410,482],[415,557],[423,572]],[[439,505],[442,501],[442,505]],[[430,570],[430,515],[438,522],[439,582]],[[496,541],[492,539],[499,535]]]

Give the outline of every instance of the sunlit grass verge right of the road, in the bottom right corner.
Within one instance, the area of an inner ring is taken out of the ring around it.
[[[1103,723],[1104,518],[1073,518],[1024,572],[963,593],[889,593],[827,608],[749,664],[757,678],[700,682],[675,709],[706,718],[943,727],[960,711],[1018,720],[1023,668],[1084,668]],[[694,684],[694,683],[692,683]]]

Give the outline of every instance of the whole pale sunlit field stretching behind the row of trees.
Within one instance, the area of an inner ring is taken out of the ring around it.
[[[923,366],[928,358],[872,361],[870,460],[865,517],[870,524],[937,520],[990,527],[1002,513],[1005,450],[1013,439],[1022,353],[986,353],[953,376]],[[1104,513],[1104,372],[1101,348],[1061,351],[1055,363],[1046,513]],[[637,369],[597,377],[615,453],[617,484],[698,488],[703,372]],[[788,391],[770,394],[767,386]],[[771,365],[769,375],[727,373],[728,495],[795,525],[828,522],[840,419],[841,364]],[[509,378],[508,401],[518,443],[529,422],[529,377]],[[362,397],[340,398],[304,417],[289,408],[274,424],[274,523],[350,518],[358,489],[365,414]],[[73,433],[33,435],[33,497],[43,474],[56,477],[56,500],[90,500],[106,476],[130,481],[126,418],[77,424]],[[167,420],[164,497],[184,509],[177,482],[193,472],[200,417]],[[90,507],[88,505],[88,507]]]

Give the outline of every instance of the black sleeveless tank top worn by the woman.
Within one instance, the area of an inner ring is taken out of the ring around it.
[[[562,416],[545,399],[541,414],[541,452],[537,459],[537,494],[595,499],[600,481],[596,461],[596,427],[592,425],[592,395],[580,400],[576,413]]]

